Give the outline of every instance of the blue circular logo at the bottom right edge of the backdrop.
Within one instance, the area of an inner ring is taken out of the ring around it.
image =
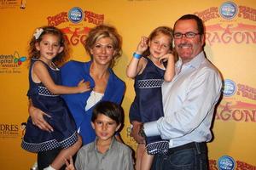
[[[218,158],[218,169],[219,170],[234,170],[236,162],[230,156],[222,156]]]

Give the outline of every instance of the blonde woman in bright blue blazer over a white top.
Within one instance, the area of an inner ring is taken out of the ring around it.
[[[82,79],[90,82],[91,90],[83,94],[63,95],[69,110],[76,122],[83,144],[96,138],[90,125],[90,117],[94,105],[100,100],[108,100],[120,104],[125,93],[125,82],[122,82],[112,67],[121,53],[121,37],[111,26],[92,28],[85,40],[84,48],[90,54],[89,62],[69,61],[61,67],[62,85],[76,86]],[[35,126],[49,132],[54,129],[44,120],[48,116],[32,105],[29,113]]]

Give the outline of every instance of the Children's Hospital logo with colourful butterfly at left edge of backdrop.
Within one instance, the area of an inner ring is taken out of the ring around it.
[[[20,66],[26,61],[26,56],[20,56],[15,51],[14,54],[0,54],[0,74],[20,73]]]

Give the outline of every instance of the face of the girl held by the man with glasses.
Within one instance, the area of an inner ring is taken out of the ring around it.
[[[148,42],[151,57],[159,59],[161,56],[170,52],[171,38],[163,33],[158,33]]]

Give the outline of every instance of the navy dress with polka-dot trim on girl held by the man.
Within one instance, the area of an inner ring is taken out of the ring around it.
[[[164,82],[165,70],[154,65],[151,59],[147,61],[143,73],[134,80],[136,96],[130,108],[130,122],[152,122],[164,116],[161,85]],[[160,136],[148,137],[146,149],[150,155],[166,153],[169,141],[162,140]]]

